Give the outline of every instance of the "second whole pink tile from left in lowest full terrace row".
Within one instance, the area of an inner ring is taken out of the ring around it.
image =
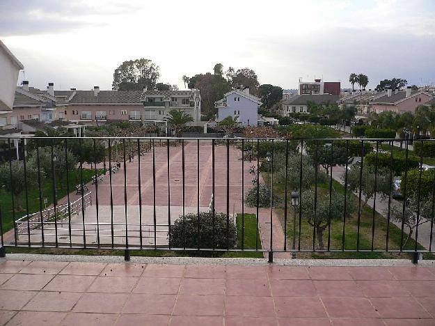
[[[127,293],[84,293],[74,306],[76,312],[120,313]]]

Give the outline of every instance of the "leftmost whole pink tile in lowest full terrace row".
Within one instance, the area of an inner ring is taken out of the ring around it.
[[[70,311],[80,296],[78,292],[39,292],[24,306],[24,310]]]

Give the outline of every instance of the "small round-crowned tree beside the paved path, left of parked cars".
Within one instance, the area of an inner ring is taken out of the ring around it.
[[[351,165],[347,172],[347,185],[351,192],[360,191],[364,196],[363,207],[367,205],[367,202],[374,197],[375,188],[377,196],[385,198],[390,192],[390,173],[388,169],[378,166],[376,177],[375,168],[372,165],[365,164],[363,166],[363,173],[360,180],[361,164]],[[376,178],[376,183],[375,183]],[[343,183],[345,182],[345,176],[342,176]]]

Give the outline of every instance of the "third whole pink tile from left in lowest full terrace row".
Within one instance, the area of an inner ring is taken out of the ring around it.
[[[148,315],[170,315],[176,295],[132,294],[122,313],[144,313]]]

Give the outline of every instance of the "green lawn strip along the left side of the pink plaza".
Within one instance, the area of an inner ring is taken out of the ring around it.
[[[102,169],[97,170],[98,173],[103,173]],[[84,183],[90,182],[92,177],[95,175],[95,170],[83,169],[83,180]],[[70,192],[75,189],[75,185],[80,183],[80,172],[79,169],[69,171],[68,175],[70,179]],[[28,201],[29,201],[29,213],[38,212],[40,210],[39,201],[39,189],[38,185],[28,189]],[[67,195],[66,187],[66,177],[63,183],[56,183],[56,198],[62,199]],[[45,208],[44,199],[47,198],[47,207],[53,203],[53,183],[51,178],[45,178],[42,181],[41,187],[41,198],[42,198],[42,209]],[[17,210],[16,199],[15,199],[15,219],[26,215],[26,194],[23,191],[20,195],[20,201],[22,205],[22,210]],[[13,228],[13,206],[12,206],[12,196],[10,192],[6,192],[4,189],[0,189],[0,208],[1,208],[1,218],[3,222],[3,233],[6,233],[11,228]]]

